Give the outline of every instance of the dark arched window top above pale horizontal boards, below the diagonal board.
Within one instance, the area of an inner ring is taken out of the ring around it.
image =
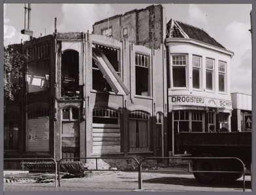
[[[93,110],[93,123],[120,124],[120,113],[111,109]]]

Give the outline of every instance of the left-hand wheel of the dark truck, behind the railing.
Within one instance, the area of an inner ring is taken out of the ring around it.
[[[210,154],[202,154],[198,157],[214,157]],[[193,162],[193,171],[200,171],[200,172],[193,172],[195,179],[200,183],[204,184],[212,184],[216,183],[216,181],[221,180],[221,172],[222,163],[219,159],[196,159]],[[202,172],[202,171],[211,171],[211,172]],[[216,172],[215,172],[216,171]]]

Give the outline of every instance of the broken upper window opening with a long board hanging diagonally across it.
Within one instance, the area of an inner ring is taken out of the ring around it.
[[[93,44],[93,90],[129,94],[120,79],[119,50]]]

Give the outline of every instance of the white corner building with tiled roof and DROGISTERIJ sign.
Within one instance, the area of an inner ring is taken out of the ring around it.
[[[167,23],[168,140],[185,132],[231,131],[231,58],[205,31]]]

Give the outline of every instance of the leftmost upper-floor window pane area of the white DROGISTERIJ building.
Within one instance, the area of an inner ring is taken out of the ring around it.
[[[172,56],[172,86],[186,87],[186,57]]]

